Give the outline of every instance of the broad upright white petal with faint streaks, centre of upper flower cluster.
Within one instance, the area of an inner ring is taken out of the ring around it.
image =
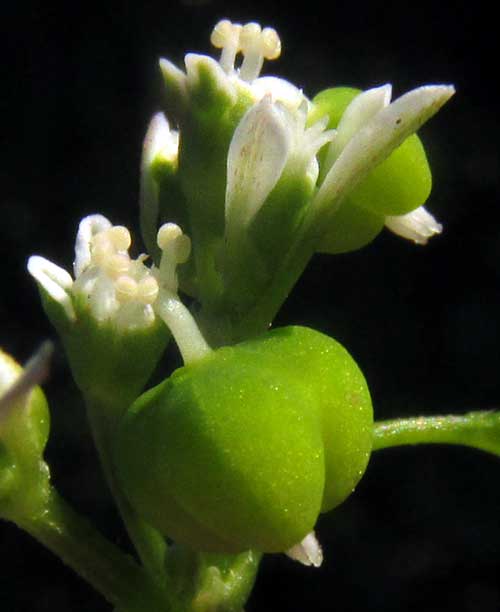
[[[265,96],[241,119],[227,159],[226,228],[244,229],[278,182],[291,147],[286,110]]]

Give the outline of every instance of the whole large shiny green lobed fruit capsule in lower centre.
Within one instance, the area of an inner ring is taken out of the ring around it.
[[[292,327],[218,349],[145,393],[117,433],[115,462],[132,505],[175,541],[279,552],[352,491],[371,431],[352,358]]]

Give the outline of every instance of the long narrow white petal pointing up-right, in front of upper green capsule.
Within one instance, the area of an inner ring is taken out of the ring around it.
[[[340,199],[384,161],[455,93],[448,85],[426,85],[401,96],[376,113],[349,140],[330,168],[312,203],[312,215],[335,210]]]

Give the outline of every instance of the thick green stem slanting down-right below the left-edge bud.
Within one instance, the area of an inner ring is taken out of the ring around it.
[[[44,511],[16,524],[30,533],[89,582],[111,604],[123,610],[158,610],[158,600],[145,571],[104,538],[51,489]],[[141,596],[142,608],[139,608]],[[148,606],[148,607],[146,607]]]

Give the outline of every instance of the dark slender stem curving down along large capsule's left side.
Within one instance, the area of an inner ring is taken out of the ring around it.
[[[166,543],[163,536],[137,516],[117,481],[111,456],[112,432],[118,410],[96,398],[87,397],[87,414],[104,475],[113,494],[127,532],[144,567],[159,582],[165,579]],[[121,412],[121,410],[120,410]]]

